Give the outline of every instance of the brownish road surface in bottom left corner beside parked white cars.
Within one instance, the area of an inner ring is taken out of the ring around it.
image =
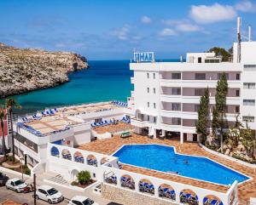
[[[4,202],[5,200],[10,199],[14,202],[18,203],[27,203],[28,205],[34,204],[34,199],[32,197],[32,193],[16,193],[15,191],[7,190],[5,186],[0,187],[0,203]],[[67,199],[65,199],[63,202],[60,202],[58,204],[60,205],[67,205]],[[37,200],[37,205],[47,205],[48,202],[44,202],[42,200]]]

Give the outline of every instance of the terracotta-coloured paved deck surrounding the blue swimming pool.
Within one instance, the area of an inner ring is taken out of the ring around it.
[[[177,153],[188,154],[192,156],[209,157],[216,162],[220,162],[229,168],[233,168],[241,174],[245,174],[252,179],[247,180],[238,186],[238,197],[241,204],[246,204],[250,197],[256,197],[256,170],[253,168],[248,168],[236,162],[231,162],[230,160],[224,159],[223,157],[215,156],[205,150],[203,150],[196,143],[183,143],[181,145],[178,140],[159,140],[159,139],[149,139],[147,136],[142,136],[138,134],[132,134],[130,138],[121,139],[119,135],[114,135],[111,139],[96,140],[88,144],[80,145],[79,149],[86,151],[96,151],[102,154],[112,155],[117,151],[122,145],[131,144],[160,144],[160,145],[171,145],[176,147]],[[229,187],[224,185],[216,185],[210,182],[200,181],[197,179],[188,179],[182,176],[177,176],[173,174],[165,174],[158,171],[137,168],[130,165],[124,165],[123,168],[127,171],[131,171],[138,174],[145,174],[154,176],[160,179],[169,179],[179,183],[187,185],[195,185],[197,187],[209,189],[212,191],[226,192]]]

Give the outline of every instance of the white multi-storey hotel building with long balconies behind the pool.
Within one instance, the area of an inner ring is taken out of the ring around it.
[[[214,53],[188,53],[186,62],[134,62],[130,105],[135,111],[131,124],[139,134],[180,136],[180,141],[197,141],[195,122],[201,95],[210,91],[210,106],[215,103],[216,85],[222,73],[228,77],[227,120],[239,119],[256,129],[256,42],[237,43],[233,60],[222,62]]]

